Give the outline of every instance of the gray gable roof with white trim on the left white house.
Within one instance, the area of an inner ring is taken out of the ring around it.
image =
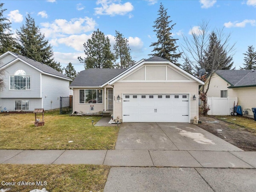
[[[62,74],[61,72],[58,72],[57,70],[55,70],[54,68],[52,68],[52,67],[50,67],[50,66],[48,66],[46,64],[43,64],[41,62],[38,62],[36,60],[30,59],[28,57],[22,56],[20,54],[17,54],[17,53],[11,52],[11,51],[8,51],[8,52],[10,54],[12,54],[13,56],[15,56],[16,58],[14,60],[10,61],[9,63],[3,65],[1,68],[5,68],[5,67],[9,66],[10,64],[14,63],[17,60],[21,60],[21,61],[23,61],[23,62],[25,62],[27,64],[30,64],[31,66],[33,66],[37,70],[40,70],[41,72],[44,72],[46,74],[51,74],[51,75],[54,75],[54,76],[58,76],[58,77],[61,77],[61,78],[65,78],[65,79],[71,80],[66,75]],[[6,53],[8,53],[8,52],[6,52]],[[4,54],[6,54],[6,53],[4,53]]]

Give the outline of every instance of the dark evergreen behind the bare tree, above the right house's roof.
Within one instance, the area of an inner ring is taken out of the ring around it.
[[[204,50],[204,69],[208,72],[216,69],[229,70],[234,64],[232,60],[232,56],[228,56],[216,33],[212,31],[209,36],[208,47]]]

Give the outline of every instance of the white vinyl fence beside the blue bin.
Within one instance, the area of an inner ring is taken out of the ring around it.
[[[207,97],[207,105],[210,110],[207,112],[208,115],[230,115],[233,111],[231,108],[236,106],[238,101],[237,97]]]

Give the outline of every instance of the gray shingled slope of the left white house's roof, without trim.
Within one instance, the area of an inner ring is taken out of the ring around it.
[[[55,70],[54,68],[52,68],[52,67],[50,67],[50,66],[48,66],[46,64],[40,63],[40,62],[38,62],[36,60],[24,57],[22,55],[14,53],[14,52],[11,52],[11,53],[15,54],[16,56],[18,56],[18,58],[24,60],[25,62],[29,63],[30,65],[34,66],[35,68],[38,68],[39,70],[41,70],[41,71],[43,71],[45,73],[56,75],[56,76],[59,76],[59,77],[62,77],[62,78],[66,78],[66,79],[70,79],[66,75],[62,74],[61,72],[58,72],[57,70]]]

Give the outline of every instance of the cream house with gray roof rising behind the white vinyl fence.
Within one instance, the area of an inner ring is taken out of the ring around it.
[[[204,84],[204,90],[208,82],[209,79]],[[252,108],[256,107],[256,71],[217,70],[210,80],[207,97],[237,97],[242,111],[248,110],[248,117],[253,118]]]

